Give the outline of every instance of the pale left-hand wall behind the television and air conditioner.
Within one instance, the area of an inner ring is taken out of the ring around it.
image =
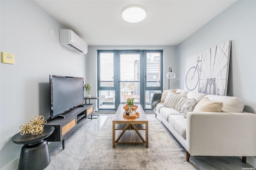
[[[15,55],[14,65],[0,63],[2,168],[20,154],[21,145],[11,140],[20,125],[30,117],[50,116],[49,75],[85,77],[86,55],[59,44],[59,29],[64,26],[34,1],[1,0],[0,15],[1,52]]]

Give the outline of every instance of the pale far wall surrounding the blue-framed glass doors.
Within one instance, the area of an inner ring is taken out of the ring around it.
[[[168,79],[166,74],[169,71],[169,67],[172,67],[172,71],[178,70],[176,65],[176,46],[88,46],[87,63],[88,75],[86,75],[86,82],[92,86],[91,96],[97,94],[97,50],[100,49],[117,49],[117,50],[129,50],[129,49],[162,49],[163,50],[163,67],[164,67],[164,90],[168,89]],[[170,79],[170,89],[177,87],[177,79]],[[91,101],[96,106],[96,101]]]

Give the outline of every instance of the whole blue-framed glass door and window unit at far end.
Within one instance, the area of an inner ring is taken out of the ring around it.
[[[134,98],[144,110],[162,91],[162,50],[98,50],[99,110],[116,110]]]

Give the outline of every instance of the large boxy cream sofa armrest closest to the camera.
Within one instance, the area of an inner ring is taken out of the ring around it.
[[[256,156],[256,114],[189,112],[186,119],[192,156]]]

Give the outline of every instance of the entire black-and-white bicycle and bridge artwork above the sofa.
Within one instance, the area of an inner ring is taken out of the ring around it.
[[[227,95],[231,41],[216,45],[187,59],[184,89]]]

